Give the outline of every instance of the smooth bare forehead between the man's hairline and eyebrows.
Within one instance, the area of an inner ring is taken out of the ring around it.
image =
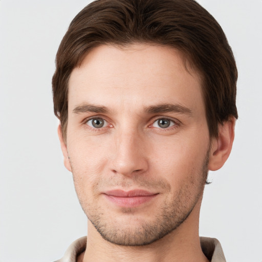
[[[204,113],[200,76],[185,68],[178,50],[159,45],[94,48],[69,79],[69,112],[81,103],[112,109],[179,103]]]

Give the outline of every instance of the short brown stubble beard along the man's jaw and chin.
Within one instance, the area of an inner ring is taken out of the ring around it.
[[[164,201],[153,221],[141,221],[140,225],[136,227],[130,226],[128,223],[122,225],[114,221],[108,221],[108,217],[99,206],[91,206],[81,198],[79,198],[79,202],[88,219],[106,241],[121,246],[149,245],[173,232],[186,221],[195,205],[202,198],[208,176],[208,162],[209,150],[202,169],[192,174],[191,180],[188,179],[188,183],[179,190],[173,202]],[[196,181],[193,178],[194,176],[198,176],[199,179]],[[74,182],[76,186],[75,179]],[[156,182],[154,183],[156,184]],[[141,184],[148,184],[148,182],[144,181]],[[170,185],[163,180],[159,181],[159,184],[170,190]],[[195,189],[194,193],[191,192],[192,187]],[[78,191],[77,188],[76,191]],[[135,219],[132,209],[123,208],[121,211],[127,215],[130,214],[130,220]]]

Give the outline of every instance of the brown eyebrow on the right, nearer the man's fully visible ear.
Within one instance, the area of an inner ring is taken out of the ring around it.
[[[181,104],[158,104],[150,105],[144,108],[144,112],[147,114],[157,114],[157,113],[182,113],[187,115],[192,115],[192,111]]]

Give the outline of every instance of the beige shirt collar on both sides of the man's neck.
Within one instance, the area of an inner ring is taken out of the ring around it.
[[[216,238],[200,237],[203,253],[211,262],[226,262],[220,242]],[[86,236],[74,241],[64,256],[55,262],[76,262],[77,256],[85,250]]]

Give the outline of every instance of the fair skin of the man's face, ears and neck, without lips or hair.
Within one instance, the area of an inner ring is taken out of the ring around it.
[[[97,47],[73,70],[66,140],[60,126],[58,134],[89,219],[78,261],[208,261],[199,240],[204,184],[230,154],[235,120],[209,137],[201,78],[189,71],[179,51],[146,44]],[[104,193],[115,189],[156,196],[120,207]]]

